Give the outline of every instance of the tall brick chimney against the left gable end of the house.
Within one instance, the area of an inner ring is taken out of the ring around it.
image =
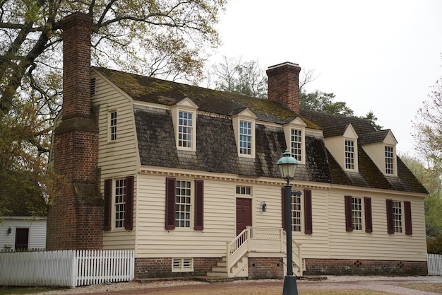
[[[102,248],[98,128],[90,105],[92,18],[73,13],[63,30],[63,108],[54,130],[54,170],[64,175],[47,216],[47,250]]]

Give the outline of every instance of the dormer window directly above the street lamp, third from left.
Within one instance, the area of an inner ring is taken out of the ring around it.
[[[287,148],[298,163],[305,163],[305,127],[306,123],[299,117],[284,125]]]

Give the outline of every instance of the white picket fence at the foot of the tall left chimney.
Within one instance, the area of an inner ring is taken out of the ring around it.
[[[0,253],[0,286],[78,287],[129,282],[133,250],[59,250]]]

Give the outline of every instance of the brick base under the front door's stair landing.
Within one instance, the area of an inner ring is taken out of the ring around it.
[[[249,258],[249,279],[282,279],[282,258]]]

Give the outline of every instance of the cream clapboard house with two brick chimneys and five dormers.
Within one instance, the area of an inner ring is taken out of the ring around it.
[[[427,192],[389,129],[299,108],[299,71],[270,66],[268,100],[90,66],[83,13],[62,22],[64,187],[47,248],[134,249],[136,277],[282,277],[277,160],[292,189],[294,270],[426,274]]]

